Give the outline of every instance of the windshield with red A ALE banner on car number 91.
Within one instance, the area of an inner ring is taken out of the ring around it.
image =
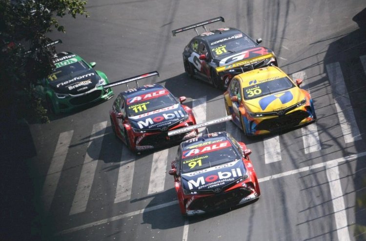
[[[236,159],[240,159],[240,155],[230,141],[223,138],[210,139],[183,150],[182,171],[197,171],[232,162]]]

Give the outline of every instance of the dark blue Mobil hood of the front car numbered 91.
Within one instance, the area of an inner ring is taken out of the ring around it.
[[[215,167],[183,173],[183,188],[187,191],[208,191],[219,193],[223,187],[243,177],[246,173],[241,159]]]

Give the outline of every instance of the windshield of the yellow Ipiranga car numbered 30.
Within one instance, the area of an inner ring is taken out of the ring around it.
[[[257,80],[252,80],[249,83],[256,82]],[[287,77],[265,81],[243,88],[244,99],[254,99],[267,94],[285,91],[293,88],[294,86],[294,83]]]

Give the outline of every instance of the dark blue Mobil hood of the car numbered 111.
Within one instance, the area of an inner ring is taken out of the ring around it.
[[[167,131],[169,128],[179,124],[186,117],[181,104],[175,104],[155,111],[129,117],[132,128],[137,130],[161,130]]]

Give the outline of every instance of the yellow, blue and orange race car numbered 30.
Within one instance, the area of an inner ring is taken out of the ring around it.
[[[269,66],[236,75],[224,93],[226,112],[246,135],[301,126],[316,120],[310,94],[280,68]]]

